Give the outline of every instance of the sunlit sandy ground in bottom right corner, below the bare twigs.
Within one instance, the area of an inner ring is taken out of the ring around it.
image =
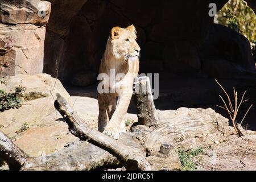
[[[193,161],[197,170],[216,171],[255,171],[256,170],[256,134],[247,132],[246,137],[231,134],[216,139],[203,146],[204,154]]]

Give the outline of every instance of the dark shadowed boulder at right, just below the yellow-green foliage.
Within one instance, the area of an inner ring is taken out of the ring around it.
[[[228,27],[214,24],[210,28],[208,36],[201,43],[200,49],[203,61],[224,59],[239,65],[245,71],[255,71],[255,60],[251,54],[249,40]],[[221,70],[226,71],[226,69]]]

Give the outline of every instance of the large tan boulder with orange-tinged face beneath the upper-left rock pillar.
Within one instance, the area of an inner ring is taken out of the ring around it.
[[[76,139],[69,134],[68,126],[53,104],[56,93],[73,104],[59,80],[46,74],[16,75],[2,80],[5,84],[0,85],[0,90],[6,93],[14,92],[16,86],[25,87],[25,91],[18,95],[19,100],[23,101],[19,109],[0,113],[0,126],[1,131],[28,155],[50,154]],[[23,126],[28,129],[20,130]]]

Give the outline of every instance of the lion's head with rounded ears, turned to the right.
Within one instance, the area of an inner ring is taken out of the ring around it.
[[[136,42],[136,29],[133,24],[126,28],[114,27],[108,39],[108,46],[116,59],[138,57],[141,48]]]

